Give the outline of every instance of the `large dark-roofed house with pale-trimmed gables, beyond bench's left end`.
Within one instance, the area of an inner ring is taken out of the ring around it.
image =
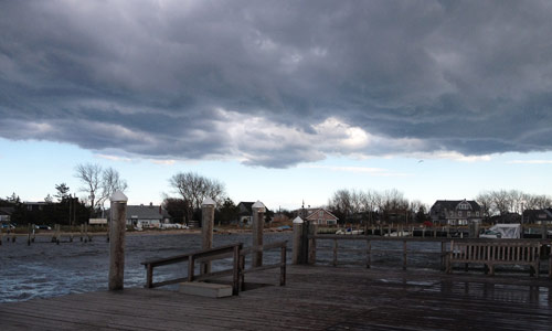
[[[475,201],[466,200],[437,200],[429,216],[434,224],[440,225],[467,225],[473,222],[482,221],[481,206]]]

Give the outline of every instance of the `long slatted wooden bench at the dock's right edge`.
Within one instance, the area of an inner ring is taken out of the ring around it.
[[[539,277],[541,243],[480,241],[480,242],[450,242],[450,252],[447,255],[446,271],[453,271],[454,263],[484,264],[489,274],[495,275],[496,265],[526,265],[530,267],[530,275]]]

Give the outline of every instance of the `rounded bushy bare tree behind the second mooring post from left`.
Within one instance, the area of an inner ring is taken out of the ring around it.
[[[169,183],[185,202],[188,221],[192,220],[193,210],[200,209],[205,197],[211,197],[217,203],[225,197],[223,183],[194,172],[179,172],[169,179]]]

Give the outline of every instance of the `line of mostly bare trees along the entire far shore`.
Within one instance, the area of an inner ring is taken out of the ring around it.
[[[74,177],[81,182],[77,192],[85,195],[76,197],[65,183],[55,185],[53,196],[47,194],[45,204],[40,210],[24,207],[19,196],[0,199],[0,206],[13,206],[12,222],[18,224],[82,224],[89,217],[104,214],[106,201],[115,191],[125,192],[127,182],[113,168],[102,168],[98,164],[83,163],[75,167]],[[163,209],[174,222],[189,223],[201,220],[201,204],[206,197],[216,203],[215,220],[231,223],[238,218],[238,207],[230,199],[224,183],[209,179],[194,172],[178,172],[169,179],[176,196],[163,194]],[[54,201],[54,197],[56,201]],[[482,209],[484,215],[521,214],[522,210],[539,210],[552,206],[552,199],[543,194],[528,194],[518,190],[484,191],[475,199]],[[370,223],[375,220],[383,222],[417,222],[427,221],[429,206],[418,200],[408,201],[396,189],[349,190],[341,189],[333,193],[326,206],[341,222]],[[284,211],[289,217],[293,214]],[[267,210],[266,216],[270,217]],[[105,215],[104,215],[105,216]]]

